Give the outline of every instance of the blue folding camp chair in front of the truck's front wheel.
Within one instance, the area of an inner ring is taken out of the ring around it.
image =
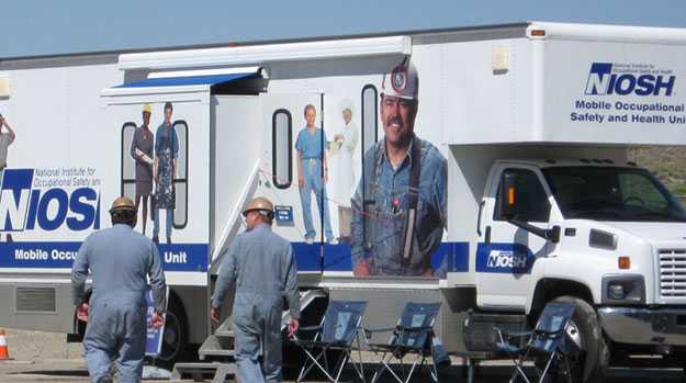
[[[515,372],[509,380],[510,383],[515,382],[518,375],[530,383],[524,372],[524,362],[529,357],[538,358],[536,361],[539,363],[535,363],[535,367],[539,382],[543,382],[551,370],[559,371],[558,363],[562,362],[564,369],[562,374],[566,376],[569,383],[572,383],[570,359],[577,356],[580,350],[573,341],[566,340],[566,327],[574,314],[574,304],[564,302],[547,304],[536,327],[530,331],[507,333],[498,328],[493,329],[499,340],[496,342],[497,348],[513,356]],[[514,339],[518,339],[519,345],[513,343]],[[522,341],[525,339],[526,342]],[[522,343],[524,346],[520,346]],[[543,365],[543,369],[541,370],[539,365]]]

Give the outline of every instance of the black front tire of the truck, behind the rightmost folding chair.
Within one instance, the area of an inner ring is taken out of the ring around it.
[[[560,296],[553,302],[573,303],[576,308],[567,334],[581,340],[581,359],[572,370],[572,378],[580,382],[604,382],[609,365],[610,352],[598,316],[586,301],[575,296]]]

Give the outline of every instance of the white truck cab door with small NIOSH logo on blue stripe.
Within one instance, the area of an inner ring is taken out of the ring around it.
[[[494,181],[486,191],[486,206],[482,213],[485,236],[476,248],[475,271],[480,305],[519,309],[525,307],[536,261],[546,257],[550,248],[546,239],[499,216],[499,189],[503,176],[508,172],[518,178],[518,219],[541,228],[549,226],[550,193],[538,169],[520,165],[498,166],[493,170]]]

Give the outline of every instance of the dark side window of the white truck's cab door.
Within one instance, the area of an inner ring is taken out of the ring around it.
[[[503,188],[503,177],[506,173],[514,173],[517,177],[517,221],[522,222],[548,222],[550,218],[550,201],[548,194],[536,176],[536,172],[528,169],[506,169],[501,176],[501,184],[495,203],[495,221],[506,221],[501,216],[501,188]]]

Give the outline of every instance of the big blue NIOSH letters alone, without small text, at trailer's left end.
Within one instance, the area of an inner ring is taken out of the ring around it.
[[[0,188],[0,230],[100,228],[100,201],[92,188],[34,189],[34,169],[5,169]]]

